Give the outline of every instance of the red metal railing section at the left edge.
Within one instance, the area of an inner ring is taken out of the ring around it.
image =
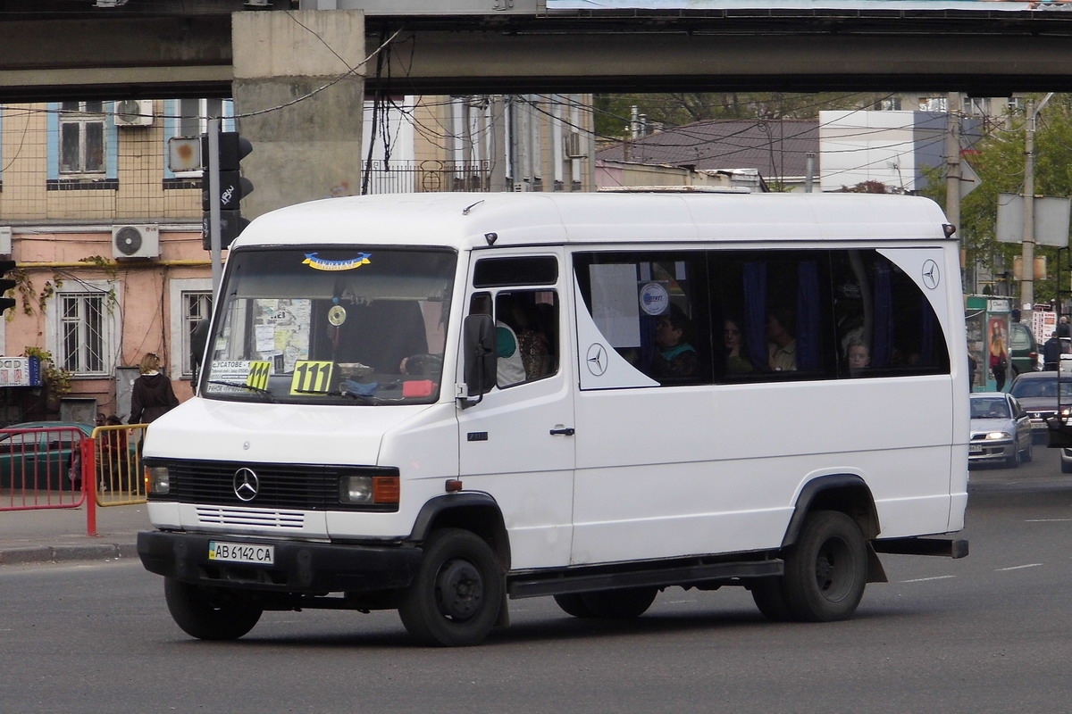
[[[88,442],[75,426],[0,429],[0,511],[80,506]]]

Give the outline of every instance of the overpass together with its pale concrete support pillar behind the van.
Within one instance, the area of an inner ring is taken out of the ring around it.
[[[1072,90],[1066,5],[576,1],[559,12],[561,0],[0,0],[0,102],[233,96],[257,147],[242,163],[252,217],[360,185],[355,107],[377,90]]]

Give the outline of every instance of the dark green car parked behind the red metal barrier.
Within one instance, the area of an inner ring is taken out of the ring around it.
[[[77,490],[71,467],[91,424],[26,422],[0,429],[0,488]]]

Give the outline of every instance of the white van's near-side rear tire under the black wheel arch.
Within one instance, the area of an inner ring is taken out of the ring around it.
[[[855,521],[839,511],[812,513],[784,558],[781,588],[793,620],[852,616],[867,584],[867,547]]]

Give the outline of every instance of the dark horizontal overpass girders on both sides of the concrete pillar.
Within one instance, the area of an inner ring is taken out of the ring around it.
[[[1072,89],[1072,12],[553,12],[547,4],[0,0],[0,101],[230,95],[232,13],[299,6],[363,10],[369,52],[394,37],[378,72],[371,64],[364,72],[370,91]],[[251,49],[249,62],[268,61],[255,56],[255,43]]]

